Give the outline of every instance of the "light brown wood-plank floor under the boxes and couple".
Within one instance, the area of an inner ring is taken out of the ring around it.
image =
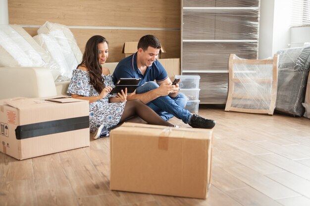
[[[217,122],[207,200],[110,191],[102,138],[23,161],[0,153],[0,206],[310,206],[309,119],[211,106],[199,114]]]

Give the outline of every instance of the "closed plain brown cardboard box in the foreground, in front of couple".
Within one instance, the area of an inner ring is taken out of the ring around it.
[[[110,189],[207,198],[212,129],[124,123],[110,132]]]

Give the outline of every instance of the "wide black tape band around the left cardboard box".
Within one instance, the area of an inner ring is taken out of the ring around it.
[[[48,134],[73,131],[89,127],[89,116],[25,124],[15,129],[16,139],[26,139]]]

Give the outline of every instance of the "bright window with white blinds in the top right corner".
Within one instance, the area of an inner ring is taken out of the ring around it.
[[[310,26],[310,0],[293,0],[291,26]]]

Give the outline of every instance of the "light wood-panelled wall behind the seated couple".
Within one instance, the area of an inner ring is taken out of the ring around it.
[[[153,34],[164,46],[162,58],[180,57],[180,0],[8,0],[10,24],[37,35],[46,21],[68,26],[82,52],[93,35],[109,41],[107,62],[118,62],[125,41]]]

